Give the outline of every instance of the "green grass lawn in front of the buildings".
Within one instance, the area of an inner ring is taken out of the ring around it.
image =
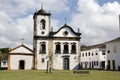
[[[1,71],[0,80],[120,80],[120,72],[90,70],[89,74],[73,74],[72,71],[41,70]]]

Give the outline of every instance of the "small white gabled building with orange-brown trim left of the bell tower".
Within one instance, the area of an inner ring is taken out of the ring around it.
[[[34,68],[33,51],[25,45],[17,46],[8,53],[8,70]]]

